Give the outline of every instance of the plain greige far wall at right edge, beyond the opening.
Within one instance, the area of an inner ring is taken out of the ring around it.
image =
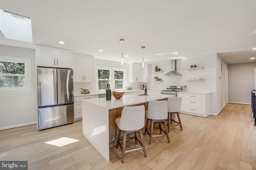
[[[255,67],[254,62],[228,65],[228,102],[251,104]]]

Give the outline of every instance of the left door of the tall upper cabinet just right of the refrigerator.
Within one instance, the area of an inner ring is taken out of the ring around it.
[[[84,82],[84,55],[73,54],[74,82]]]

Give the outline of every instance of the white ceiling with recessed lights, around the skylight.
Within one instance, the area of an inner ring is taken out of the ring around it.
[[[112,61],[120,61],[123,46],[125,63],[211,53],[228,64],[251,62],[255,6],[256,0],[1,0],[0,9],[32,18],[33,43],[0,33],[0,44],[40,44]]]

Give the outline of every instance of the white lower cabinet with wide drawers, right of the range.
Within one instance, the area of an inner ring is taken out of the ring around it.
[[[209,107],[209,94],[182,94],[182,113],[207,117]]]

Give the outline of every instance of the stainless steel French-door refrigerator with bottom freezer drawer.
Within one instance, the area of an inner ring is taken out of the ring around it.
[[[74,122],[73,70],[37,67],[38,129]]]

